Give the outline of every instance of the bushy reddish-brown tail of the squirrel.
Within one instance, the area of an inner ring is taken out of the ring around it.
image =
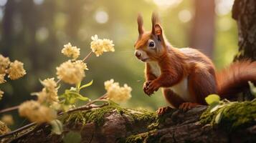
[[[236,61],[217,73],[218,94],[228,98],[248,87],[248,81],[256,83],[256,61]]]

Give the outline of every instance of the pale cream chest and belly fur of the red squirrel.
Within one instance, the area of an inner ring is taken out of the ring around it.
[[[151,72],[159,77],[161,75],[161,68],[156,61],[148,62],[151,66]],[[188,77],[184,77],[184,79],[179,82],[179,84],[174,85],[173,87],[166,87],[164,89],[171,89],[176,94],[179,95],[185,102],[192,102],[191,96],[189,96],[189,86],[188,86]]]

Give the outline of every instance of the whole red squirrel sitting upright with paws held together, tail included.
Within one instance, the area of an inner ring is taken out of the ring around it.
[[[256,82],[256,61],[236,61],[217,72],[212,60],[191,48],[171,46],[163,34],[157,14],[152,14],[152,29],[144,31],[138,15],[138,40],[135,55],[145,62],[146,82],[143,91],[151,96],[160,87],[170,107],[183,110],[206,104],[205,97],[219,94],[227,98],[241,92],[248,81]],[[163,114],[170,107],[158,109]]]

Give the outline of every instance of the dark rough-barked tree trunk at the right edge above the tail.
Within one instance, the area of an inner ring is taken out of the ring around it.
[[[256,60],[256,1],[235,0],[232,17],[237,21],[239,52],[235,60]]]

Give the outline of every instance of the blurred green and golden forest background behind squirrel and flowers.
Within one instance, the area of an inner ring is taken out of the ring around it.
[[[124,107],[156,110],[166,105],[161,91],[143,93],[144,64],[133,56],[138,38],[136,17],[143,14],[151,29],[152,11],[158,11],[165,34],[176,47],[198,48],[211,57],[217,69],[227,66],[237,52],[237,25],[231,17],[234,0],[0,0],[0,54],[24,62],[27,75],[1,84],[5,92],[0,109],[16,106],[42,86],[39,79],[55,77],[55,67],[66,58],[64,44],[90,51],[90,36],[112,39],[115,52],[92,56],[85,82],[94,80],[82,94],[96,99],[105,93],[103,82],[115,79],[133,88]],[[65,84],[62,84],[65,85]],[[65,85],[68,86],[68,85]],[[62,91],[59,92],[61,94]],[[14,119],[19,121],[16,112]]]

